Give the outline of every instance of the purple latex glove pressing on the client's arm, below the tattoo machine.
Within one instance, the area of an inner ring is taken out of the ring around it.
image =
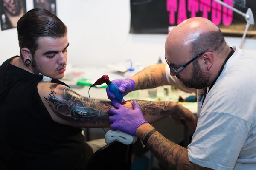
[[[132,103],[133,110],[125,108],[117,100],[111,101],[115,108],[110,108],[109,112],[113,114],[108,119],[111,123],[111,130],[120,130],[131,136],[135,136],[137,128],[143,124],[148,123],[143,117],[139,104],[134,100]]]

